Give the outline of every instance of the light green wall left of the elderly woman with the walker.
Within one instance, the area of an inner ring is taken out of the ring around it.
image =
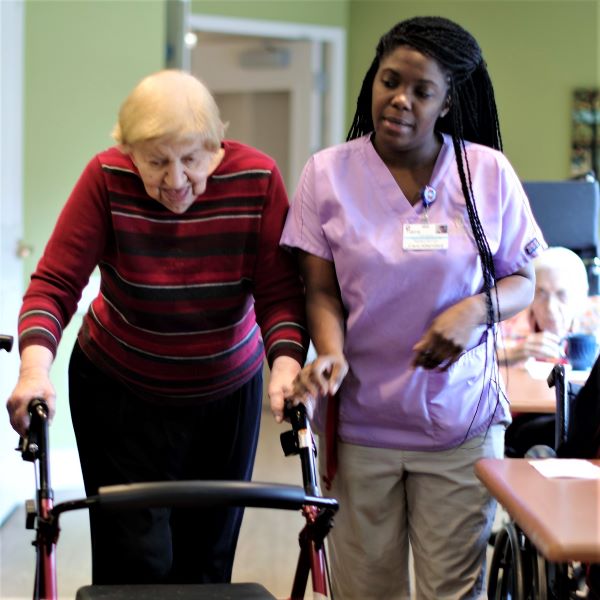
[[[0,0],[2,1],[2,0]],[[27,276],[85,164],[111,145],[120,103],[163,67],[164,3],[27,0],[25,4],[24,238]],[[66,372],[81,318],[67,327],[52,369],[52,444],[74,444]]]

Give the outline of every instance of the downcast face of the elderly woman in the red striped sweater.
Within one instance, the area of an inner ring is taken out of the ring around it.
[[[148,140],[129,150],[147,194],[178,215],[204,193],[224,152],[207,150],[199,138]]]

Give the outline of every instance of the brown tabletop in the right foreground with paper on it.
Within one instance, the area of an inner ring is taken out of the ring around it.
[[[520,458],[482,459],[475,474],[547,560],[600,562],[600,480],[547,478]]]

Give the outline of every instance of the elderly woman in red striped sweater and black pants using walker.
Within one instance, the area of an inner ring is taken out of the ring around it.
[[[20,313],[21,370],[8,400],[54,412],[49,370],[90,273],[101,287],[69,367],[86,492],[158,480],[251,476],[262,364],[280,420],[304,361],[302,287],[278,242],[288,210],[275,162],[224,140],[204,85],[178,71],[142,80],[117,146],[75,185]],[[94,583],[222,582],[242,510],[92,513]]]

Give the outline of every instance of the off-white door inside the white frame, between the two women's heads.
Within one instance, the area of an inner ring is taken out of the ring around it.
[[[291,195],[323,145],[321,44],[200,33],[191,63],[229,123],[226,137],[275,158]]]

